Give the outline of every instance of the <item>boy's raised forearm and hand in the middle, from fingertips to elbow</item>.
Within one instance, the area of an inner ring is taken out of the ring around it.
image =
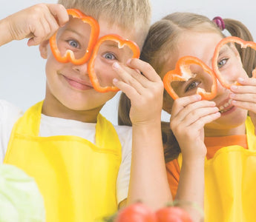
[[[163,82],[154,69],[140,59],[132,59],[128,67],[114,64],[120,78],[115,79],[114,84],[131,100],[133,141],[127,203],[142,201],[158,209],[172,201],[161,134]]]

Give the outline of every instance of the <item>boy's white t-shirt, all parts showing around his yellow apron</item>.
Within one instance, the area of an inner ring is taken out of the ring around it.
[[[22,110],[7,101],[0,100],[0,161],[4,161],[7,145],[13,124],[23,115]],[[40,136],[76,135],[95,144],[95,125],[63,118],[55,118],[42,114]],[[122,162],[116,181],[117,202],[128,196],[128,186],[131,169],[131,127],[114,126],[122,145]]]

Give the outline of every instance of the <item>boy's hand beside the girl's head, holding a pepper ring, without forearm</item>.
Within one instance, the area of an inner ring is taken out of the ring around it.
[[[130,118],[134,125],[160,124],[163,107],[163,82],[153,67],[138,58],[128,61],[128,67],[114,64],[119,80],[114,85],[131,100]],[[143,73],[143,75],[141,73]]]

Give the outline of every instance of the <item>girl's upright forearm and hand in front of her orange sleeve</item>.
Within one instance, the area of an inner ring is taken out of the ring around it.
[[[213,101],[200,101],[200,95],[178,98],[171,112],[171,130],[180,145],[183,164],[175,200],[200,221],[204,199],[204,125],[220,117]]]

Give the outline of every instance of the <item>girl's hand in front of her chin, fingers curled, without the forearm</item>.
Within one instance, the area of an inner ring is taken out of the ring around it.
[[[205,158],[204,126],[220,117],[214,101],[200,95],[177,98],[171,111],[171,130],[180,145],[183,158]]]

